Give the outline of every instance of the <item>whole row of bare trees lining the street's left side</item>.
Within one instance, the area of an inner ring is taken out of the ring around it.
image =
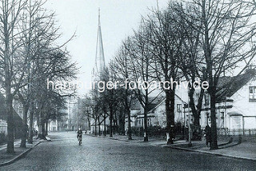
[[[63,114],[60,109],[64,107],[64,96],[70,95],[49,87],[47,80],[68,81],[76,71],[64,48],[66,43],[57,43],[61,34],[54,13],[46,11],[44,3],[6,0],[0,4],[0,90],[6,97],[8,114],[7,153],[14,153],[14,99],[23,105],[21,147],[26,147],[28,118],[32,143],[33,118],[37,117],[39,133],[45,136],[49,119]]]

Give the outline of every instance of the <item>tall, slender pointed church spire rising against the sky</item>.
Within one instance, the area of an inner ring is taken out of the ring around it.
[[[103,43],[102,43],[100,9],[98,9],[98,35],[97,35],[97,44],[96,44],[95,70],[98,76],[100,76],[103,73],[103,71],[106,70]]]

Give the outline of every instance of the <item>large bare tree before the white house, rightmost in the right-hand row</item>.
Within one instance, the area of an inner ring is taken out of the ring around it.
[[[241,74],[254,58],[256,25],[251,19],[255,6],[234,0],[200,0],[194,3],[198,6],[196,12],[201,22],[194,28],[199,28],[202,33],[200,43],[210,85],[211,149],[218,149],[215,116],[218,80],[226,72],[234,74],[234,69]]]

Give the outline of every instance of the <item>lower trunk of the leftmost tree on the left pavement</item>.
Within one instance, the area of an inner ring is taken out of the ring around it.
[[[7,117],[7,153],[14,153],[14,115],[13,115],[13,98],[10,94],[10,85],[6,86],[6,113]]]

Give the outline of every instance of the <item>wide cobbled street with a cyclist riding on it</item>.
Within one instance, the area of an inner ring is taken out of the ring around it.
[[[19,161],[1,170],[254,170],[256,163],[186,152],[147,143],[116,141],[76,133],[50,133]]]

